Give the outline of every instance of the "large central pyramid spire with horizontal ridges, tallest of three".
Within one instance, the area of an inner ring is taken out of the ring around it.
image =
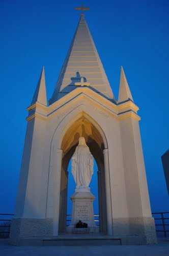
[[[88,88],[91,90],[115,100],[84,15],[80,16],[49,104],[75,90],[75,82],[80,82],[81,78],[85,83],[90,83]]]

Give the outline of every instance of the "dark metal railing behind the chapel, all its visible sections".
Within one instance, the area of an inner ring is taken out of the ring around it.
[[[2,219],[1,219],[2,216]],[[11,220],[14,214],[0,214],[0,238],[9,238]],[[169,211],[152,212],[155,221],[157,237],[169,237]],[[99,225],[99,215],[94,215],[96,225]],[[71,215],[67,215],[67,226],[71,222]]]

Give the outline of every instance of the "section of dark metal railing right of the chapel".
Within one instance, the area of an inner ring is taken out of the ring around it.
[[[163,237],[169,236],[169,211],[152,212],[155,221],[157,236],[163,233]]]

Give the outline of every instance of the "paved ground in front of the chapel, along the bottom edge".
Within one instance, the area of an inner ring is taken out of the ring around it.
[[[0,241],[1,256],[169,256],[169,238],[159,239],[157,245],[103,246],[11,246]]]

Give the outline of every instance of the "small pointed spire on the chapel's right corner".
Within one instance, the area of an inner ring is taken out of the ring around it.
[[[123,67],[121,67],[118,102],[126,101],[128,99],[131,99],[133,101]]]

